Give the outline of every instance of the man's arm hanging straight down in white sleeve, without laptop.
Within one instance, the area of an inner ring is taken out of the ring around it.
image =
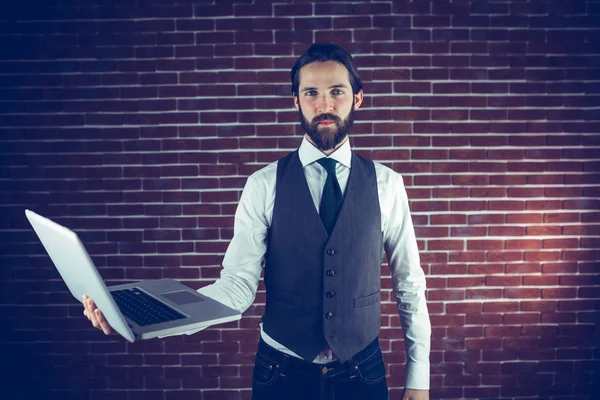
[[[386,193],[391,197],[385,201],[389,214],[382,214],[382,218],[385,251],[406,347],[406,389],[402,398],[428,399],[431,323],[425,300],[425,274],[402,177],[392,172],[388,179]]]

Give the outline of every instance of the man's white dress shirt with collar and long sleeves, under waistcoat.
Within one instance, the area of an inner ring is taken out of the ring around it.
[[[306,138],[298,152],[306,182],[317,212],[327,179],[327,171],[316,163],[324,154]],[[336,175],[346,190],[350,175],[352,151],[349,141],[329,157],[338,161]],[[420,266],[408,198],[402,177],[390,168],[375,163],[377,189],[381,207],[381,230],[392,272],[393,293],[407,355],[406,387],[429,389],[429,350],[431,325],[425,302],[425,275]],[[198,291],[240,312],[244,312],[256,296],[258,281],[267,251],[267,234],[273,218],[277,162],[253,173],[244,187],[235,213],[234,235],[223,259],[221,276],[212,285]],[[262,329],[261,337],[270,346],[299,357]],[[300,357],[299,357],[300,358]],[[329,362],[319,359],[313,362]]]

